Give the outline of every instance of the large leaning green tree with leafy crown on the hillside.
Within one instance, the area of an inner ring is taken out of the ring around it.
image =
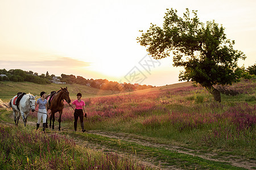
[[[233,49],[234,41],[226,39],[224,28],[213,21],[202,23],[197,11],[187,9],[183,17],[177,10],[167,9],[163,27],[151,23],[150,28],[137,40],[147,47],[155,59],[173,54],[174,66],[184,67],[179,80],[192,80],[207,88],[214,100],[221,101],[216,84],[232,84],[239,80],[236,72],[239,58],[245,55]]]

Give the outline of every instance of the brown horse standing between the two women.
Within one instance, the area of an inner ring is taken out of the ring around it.
[[[51,116],[50,116],[50,124],[49,128],[51,128],[52,124],[52,129],[54,129],[54,121],[55,121],[55,113],[59,112],[59,130],[60,130],[60,122],[61,122],[61,114],[64,108],[64,99],[67,101],[67,103],[71,103],[71,100],[69,98],[69,92],[68,92],[68,87],[62,88],[60,87],[61,90],[57,91],[51,100],[51,104],[47,104],[47,109],[51,110]],[[48,99],[50,95],[46,96],[46,99]]]

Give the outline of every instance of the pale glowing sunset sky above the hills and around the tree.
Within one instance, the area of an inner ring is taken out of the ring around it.
[[[222,24],[235,49],[247,56],[239,65],[256,62],[255,0],[0,0],[0,69],[153,86],[177,83],[182,67],[172,66],[172,57],[150,60],[136,40],[150,23],[162,26],[166,8],[180,15],[185,8],[197,10],[201,22]],[[143,65],[146,61],[151,66]],[[141,77],[131,78],[133,73]]]

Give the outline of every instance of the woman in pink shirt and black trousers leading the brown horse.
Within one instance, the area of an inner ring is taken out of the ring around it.
[[[80,118],[82,132],[85,132],[85,129],[84,129],[85,103],[81,99],[82,94],[78,93],[76,96],[77,96],[77,100],[72,102],[72,107],[73,107],[73,105],[76,105],[76,109],[75,109],[75,113],[74,113],[74,117],[75,117],[74,128],[76,131],[77,121],[78,121],[78,118]],[[84,113],[82,111],[84,111]],[[86,113],[85,113],[85,117],[86,117]]]

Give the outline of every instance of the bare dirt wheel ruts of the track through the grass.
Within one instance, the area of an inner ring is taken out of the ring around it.
[[[10,125],[10,123],[8,123],[8,122],[3,122],[3,121],[1,121],[1,122],[5,123],[7,125]],[[23,122],[21,122],[21,123],[23,125]],[[27,125],[28,126],[36,126],[36,122],[28,121]],[[73,131],[72,129],[65,128],[65,127],[63,127],[61,129],[61,131],[59,131],[59,130],[57,130],[57,126],[56,126],[55,130],[51,130],[51,129],[49,129],[49,130],[50,130],[49,131],[50,133],[54,132],[54,133],[59,133],[59,134],[60,134],[60,132],[72,133],[72,131]],[[173,151],[173,152],[179,152],[181,154],[198,156],[200,158],[203,158],[203,159],[206,159],[206,160],[211,160],[211,161],[214,161],[214,162],[231,163],[233,166],[236,166],[236,167],[241,167],[241,168],[246,168],[246,169],[253,169],[251,167],[256,167],[256,161],[255,160],[246,160],[246,159],[243,159],[243,158],[237,158],[237,156],[232,156],[232,155],[230,155],[229,158],[212,158],[213,156],[216,156],[217,154],[214,154],[214,153],[205,154],[203,152],[200,152],[199,150],[191,150],[191,149],[184,148],[184,147],[179,147],[179,146],[164,145],[164,144],[156,143],[156,142],[152,142],[152,141],[145,141],[139,135],[127,134],[127,133],[115,133],[115,132],[100,131],[100,130],[89,130],[89,131],[86,131],[86,133],[101,135],[101,136],[104,136],[104,137],[119,139],[119,140],[127,141],[127,142],[134,142],[134,143],[137,143],[138,145],[142,145],[142,146],[155,147],[155,148],[164,148],[166,150],[170,150],[170,151]],[[104,151],[104,152],[117,152],[117,154],[119,156],[125,156],[126,155],[126,153],[124,153],[124,152],[115,151],[112,148],[108,148],[106,146],[95,145],[94,143],[84,141],[80,138],[73,138],[73,137],[70,137],[70,136],[68,138],[72,138],[76,142],[76,144],[80,145],[80,146],[86,146],[86,147],[92,148],[94,150],[101,150],[101,151]],[[146,165],[147,167],[154,168],[154,169],[163,169],[161,163],[159,163],[159,165],[156,166],[156,165],[153,164],[152,160],[139,158],[139,156],[136,156],[136,155],[133,155],[133,156],[134,156],[134,159],[137,159],[137,160],[139,159],[139,163],[141,163],[143,165]],[[176,167],[164,167],[164,169],[177,169],[177,168]]]

